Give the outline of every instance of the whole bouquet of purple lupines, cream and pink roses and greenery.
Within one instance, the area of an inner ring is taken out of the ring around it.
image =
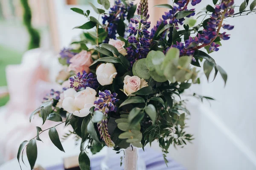
[[[213,0],[198,12],[198,20],[203,21],[193,26],[191,23],[197,20],[190,17],[195,16],[195,9],[189,6],[200,2],[173,0],[171,5],[157,5],[169,11],[151,31],[148,0],[140,0],[138,6],[133,0],[116,0],[111,8],[108,0],[98,0],[106,10],[110,8],[107,12],[90,4],[98,18],[91,16],[89,10],[71,8],[89,21],[75,27],[85,30],[81,41],[72,43],[79,48],[60,52],[59,61],[66,66],[63,72],[67,77],[58,79],[63,90],[50,91],[30,121],[39,115],[43,124],[59,122],[46,130],[52,143],[63,152],[55,127],[71,125],[70,134],[81,138],[81,170],[90,169],[88,150],[94,154],[105,146],[116,152],[130,146],[144,149],[154,140],[159,142],[167,161],[170,145],[182,146],[193,139],[185,132],[188,99],[182,99],[181,94],[192,84],[200,83],[200,70],[204,70],[207,79],[214,71],[214,79],[219,72],[227,81],[227,73],[209,56],[219,50],[222,40],[230,39],[226,30],[234,26],[224,20],[256,11],[256,0],[243,1],[237,13],[234,0]],[[100,17],[103,22],[99,22]],[[191,22],[184,24],[186,20]],[[212,100],[198,94],[191,96]],[[36,129],[37,136],[20,144],[17,154],[20,163],[26,148],[31,169],[37,157],[36,141],[46,131]],[[126,164],[125,169],[135,170],[136,164]]]

